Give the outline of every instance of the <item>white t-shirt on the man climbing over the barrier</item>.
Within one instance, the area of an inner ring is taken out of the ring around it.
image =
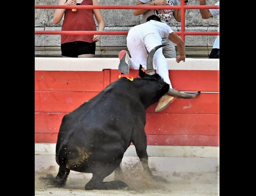
[[[127,38],[130,36],[137,36],[138,39],[144,39],[148,34],[155,34],[156,37],[168,38],[169,34],[172,33],[173,30],[166,23],[150,20],[146,23],[136,25],[132,27],[127,35]]]

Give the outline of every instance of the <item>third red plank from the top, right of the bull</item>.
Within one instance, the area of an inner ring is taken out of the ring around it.
[[[218,114],[147,114],[148,135],[219,135]]]

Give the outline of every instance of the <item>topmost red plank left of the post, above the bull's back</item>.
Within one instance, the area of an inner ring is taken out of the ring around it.
[[[35,71],[35,91],[100,92],[103,71]]]

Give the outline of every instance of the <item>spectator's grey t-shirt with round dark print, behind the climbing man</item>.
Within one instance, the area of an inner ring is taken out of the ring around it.
[[[152,0],[140,0],[142,3],[149,3]],[[166,0],[167,5],[178,5],[178,0]],[[166,6],[167,6],[166,5]],[[147,18],[151,15],[157,15],[162,22],[167,23],[170,26],[171,19],[173,18],[174,9],[171,10],[148,10],[142,14],[142,23],[147,21]]]

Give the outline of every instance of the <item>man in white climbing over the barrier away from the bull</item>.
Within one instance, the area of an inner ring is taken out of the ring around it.
[[[156,46],[162,44],[162,38],[168,38],[173,43],[177,44],[179,55],[176,56],[176,62],[185,62],[185,44],[184,41],[169,27],[161,22],[158,16],[152,15],[147,18],[147,22],[132,27],[127,36],[127,48],[132,59],[125,50],[119,53],[120,65],[119,71],[124,74],[129,73],[129,69],[139,69],[140,64],[147,69],[148,53]],[[126,63],[122,63],[122,62]],[[159,48],[154,55],[153,63],[155,64],[156,73],[172,88],[169,79],[169,70],[167,60],[165,59],[162,48]],[[127,66],[126,66],[127,65]],[[155,111],[162,111],[169,106],[174,97],[164,95],[160,98]]]

